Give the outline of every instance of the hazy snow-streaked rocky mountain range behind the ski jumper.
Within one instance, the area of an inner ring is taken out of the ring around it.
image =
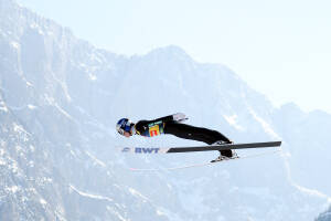
[[[199,145],[115,130],[121,117],[177,112],[237,143],[281,139],[282,151],[130,171],[216,157],[116,148]],[[312,220],[330,203],[330,115],[276,108],[228,67],[174,45],[130,57],[96,49],[12,0],[0,0],[0,220]]]

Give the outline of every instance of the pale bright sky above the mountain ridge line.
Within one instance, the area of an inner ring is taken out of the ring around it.
[[[329,0],[17,0],[81,39],[134,55],[178,45],[276,106],[331,114]]]

